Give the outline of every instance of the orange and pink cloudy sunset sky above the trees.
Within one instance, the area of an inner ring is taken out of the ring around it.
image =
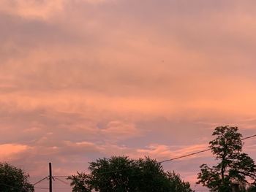
[[[70,175],[112,155],[162,161],[203,150],[217,126],[255,134],[255,6],[1,0],[0,161],[34,183],[48,162]],[[244,152],[256,159],[255,147],[248,139]],[[163,166],[207,191],[197,173],[214,162],[201,153]]]

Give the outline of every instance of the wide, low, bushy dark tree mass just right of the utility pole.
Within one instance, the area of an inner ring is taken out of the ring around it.
[[[126,156],[99,158],[91,162],[90,174],[72,175],[73,192],[192,192],[189,183],[174,172],[164,172],[151,158],[129,159]]]

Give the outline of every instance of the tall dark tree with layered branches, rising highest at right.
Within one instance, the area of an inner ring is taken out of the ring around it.
[[[237,127],[220,126],[212,134],[215,139],[209,142],[211,152],[219,161],[216,166],[200,166],[198,184],[201,183],[211,191],[229,192],[234,184],[241,188],[248,183],[246,177],[256,179],[256,166],[252,158],[242,153],[242,135]]]

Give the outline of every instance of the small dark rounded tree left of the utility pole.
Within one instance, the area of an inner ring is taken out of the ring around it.
[[[7,163],[0,163],[1,192],[32,192],[34,186],[29,183],[29,174]]]

